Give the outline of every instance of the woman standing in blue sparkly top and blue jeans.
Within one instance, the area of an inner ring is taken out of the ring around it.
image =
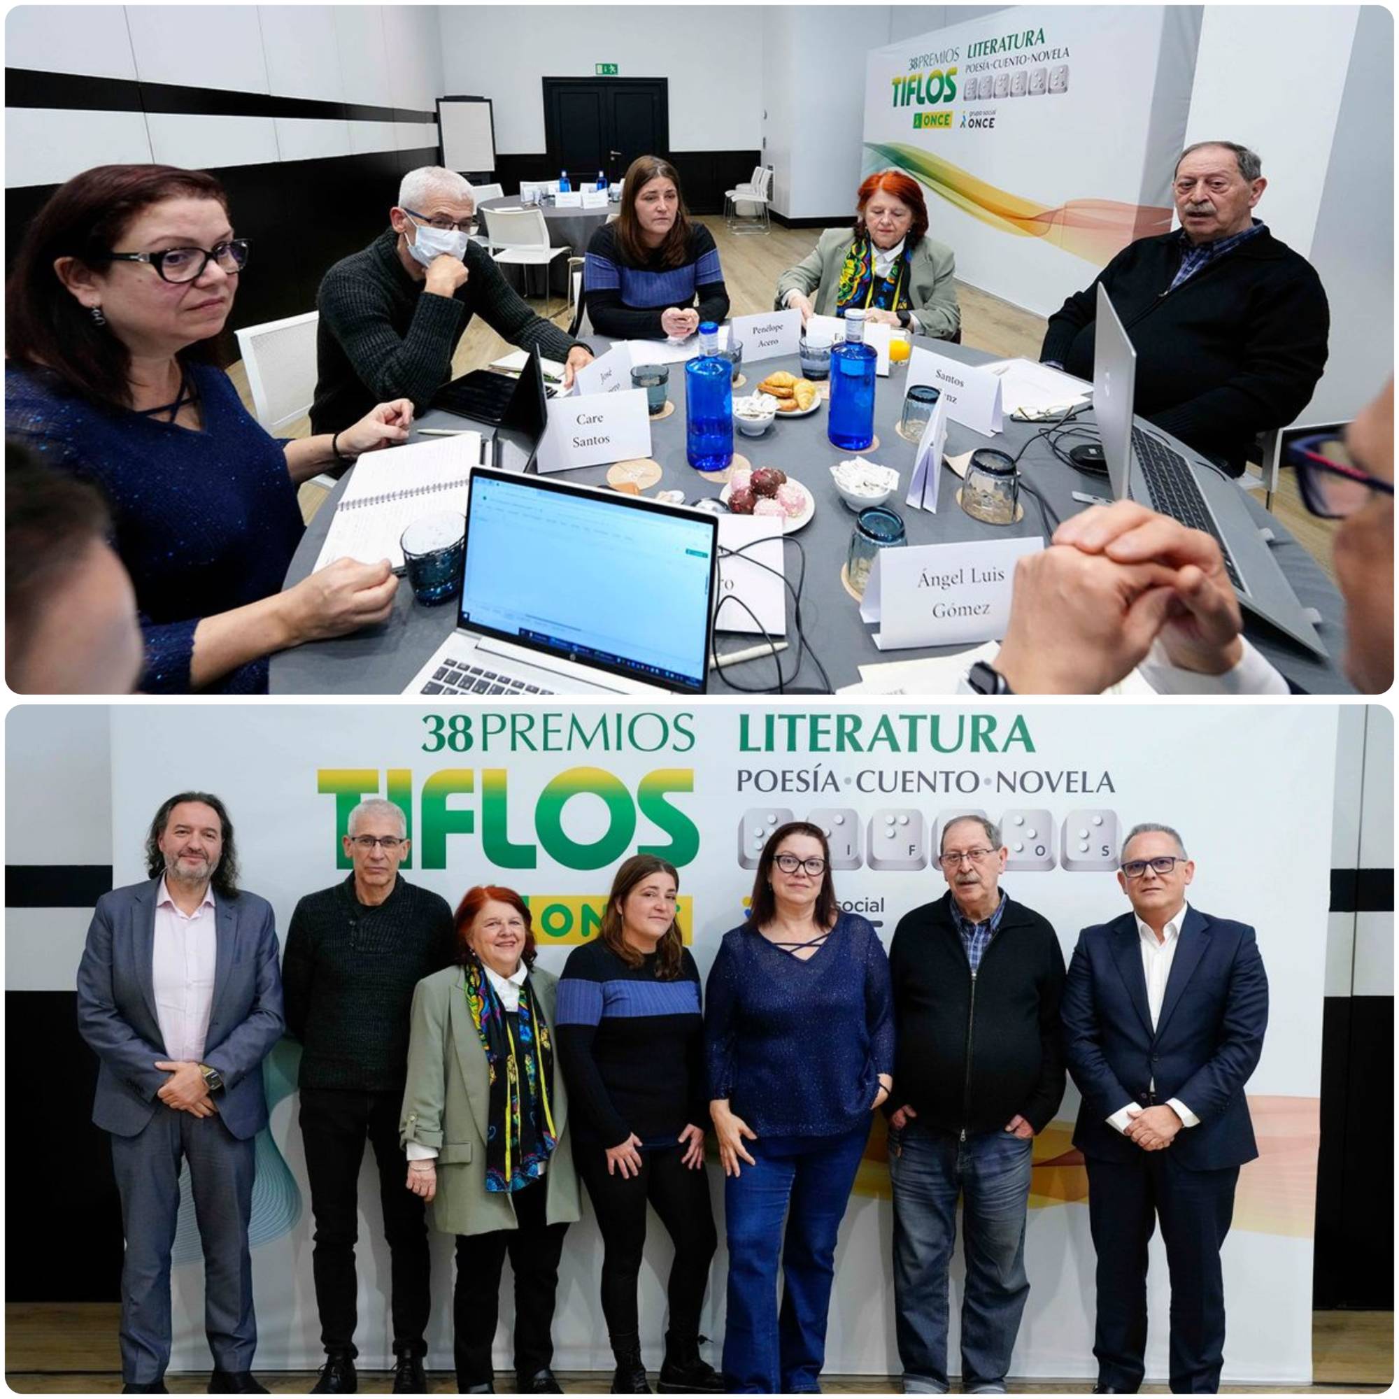
[[[768,835],[705,1003],[729,1240],[725,1381],[730,1393],[818,1393],[835,1235],[894,1072],[888,957],[867,919],[841,912],[820,827]]]

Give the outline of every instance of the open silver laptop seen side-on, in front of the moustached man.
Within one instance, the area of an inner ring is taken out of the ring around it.
[[[1311,617],[1248,512],[1244,492],[1221,473],[1195,464],[1132,418],[1136,350],[1098,283],[1093,353],[1093,411],[1118,501],[1135,499],[1191,529],[1213,534],[1242,607],[1318,656],[1326,655]]]

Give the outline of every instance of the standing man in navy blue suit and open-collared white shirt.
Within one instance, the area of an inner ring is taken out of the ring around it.
[[[1186,904],[1193,877],[1171,827],[1133,827],[1118,872],[1132,912],[1083,930],[1063,989],[1098,1254],[1094,1393],[1142,1384],[1157,1219],[1172,1393],[1217,1392],[1224,1361],[1220,1245],[1240,1167],[1258,1156],[1244,1084],[1263,1049],[1267,978],[1252,928]]]

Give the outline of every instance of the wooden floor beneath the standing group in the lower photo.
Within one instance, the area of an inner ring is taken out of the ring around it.
[[[116,1349],[115,1302],[11,1302],[6,1307],[6,1381],[17,1393],[118,1393],[122,1388]],[[1312,1372],[1308,1393],[1378,1393],[1393,1379],[1393,1312],[1314,1312]],[[315,1375],[270,1374],[257,1378],[273,1393],[306,1393]],[[201,1393],[207,1374],[168,1375],[171,1393]],[[655,1377],[652,1377],[655,1379]],[[611,1374],[560,1372],[569,1393],[607,1393]],[[509,1378],[499,1377],[505,1392]],[[823,1375],[827,1393],[890,1393],[897,1382],[874,1375]],[[1081,1393],[1081,1379],[1011,1381],[1011,1393]],[[455,1377],[434,1371],[432,1393],[455,1393]],[[389,1377],[360,1372],[361,1393],[388,1393]],[[1165,1393],[1165,1385],[1144,1385],[1143,1393]],[[1293,1393],[1270,1385],[1226,1385],[1223,1393]]]

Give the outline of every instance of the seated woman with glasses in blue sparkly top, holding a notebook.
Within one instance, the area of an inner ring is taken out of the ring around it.
[[[148,691],[267,688],[267,656],[382,621],[388,561],[283,593],[297,487],[409,435],[407,400],[277,442],[213,364],[248,243],[200,171],[101,165],[29,225],[6,291],[6,434],[106,494],[136,586]]]

